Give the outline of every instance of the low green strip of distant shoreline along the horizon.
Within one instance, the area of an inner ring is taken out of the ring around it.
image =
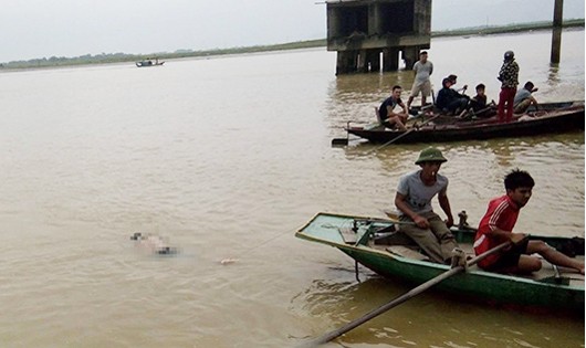
[[[563,23],[564,29],[582,28],[584,29],[584,19],[565,20]],[[475,35],[492,35],[503,33],[520,33],[530,32],[536,30],[551,30],[553,24],[551,21],[544,22],[531,22],[521,24],[509,24],[501,27],[471,27],[454,30],[442,30],[431,32],[431,38],[446,38],[446,36],[475,36]],[[74,65],[90,65],[90,64],[108,64],[108,63],[125,63],[125,62],[137,62],[148,57],[158,57],[159,60],[176,60],[186,57],[209,57],[227,54],[243,54],[243,53],[259,53],[259,52],[272,52],[272,51],[285,51],[285,50],[299,50],[299,49],[312,49],[312,48],[325,48],[327,45],[326,39],[297,41],[282,44],[271,45],[255,45],[245,48],[231,48],[231,49],[217,49],[206,51],[190,51],[190,50],[178,50],[176,52],[159,52],[151,54],[125,54],[125,53],[111,53],[111,54],[98,54],[98,55],[82,55],[76,57],[43,57],[34,59],[29,61],[13,61],[8,63],[0,63],[0,71],[12,71],[12,70],[28,70],[28,68],[44,68],[44,67],[59,67],[59,66],[74,66]]]

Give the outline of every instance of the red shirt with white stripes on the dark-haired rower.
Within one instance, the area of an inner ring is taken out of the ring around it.
[[[477,236],[474,238],[474,252],[477,255],[499,245],[498,241],[486,235],[488,232],[494,231],[495,228],[503,231],[513,231],[516,218],[519,217],[519,210],[520,208],[506,194],[489,202],[489,209],[484,218],[480,221]],[[500,254],[489,255],[484,260],[481,260],[478,265],[481,268],[485,268],[495,263],[500,256]]]

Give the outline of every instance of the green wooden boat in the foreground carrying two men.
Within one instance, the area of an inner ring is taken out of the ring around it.
[[[422,284],[450,270],[449,265],[429,261],[398,230],[399,224],[393,220],[318,213],[295,235],[337,247],[383,276],[415,284]],[[452,228],[452,231],[460,247],[473,255],[475,232],[465,228],[465,223],[460,229]],[[531,238],[544,240],[565,254],[584,259],[583,238]],[[459,299],[584,316],[584,275],[575,270],[553,266],[545,260],[540,272],[527,276],[484,272],[474,265],[465,273],[441,282],[437,289],[452,293]]]

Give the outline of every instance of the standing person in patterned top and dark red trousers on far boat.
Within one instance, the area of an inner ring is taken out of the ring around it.
[[[513,119],[513,103],[519,85],[519,65],[513,51],[504,52],[504,62],[499,72],[501,93],[499,94],[499,123],[510,123]],[[505,113],[506,108],[506,113]]]

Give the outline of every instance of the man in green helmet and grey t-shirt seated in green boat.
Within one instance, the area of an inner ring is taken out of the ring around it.
[[[422,150],[415,162],[421,169],[399,179],[395,205],[401,212],[400,221],[414,222],[401,225],[400,232],[410,236],[433,262],[449,264],[458,244],[449,229],[453,225],[453,217],[448,199],[448,178],[438,173],[446,161],[437,148]],[[431,207],[436,194],[448,218],[446,222]]]

